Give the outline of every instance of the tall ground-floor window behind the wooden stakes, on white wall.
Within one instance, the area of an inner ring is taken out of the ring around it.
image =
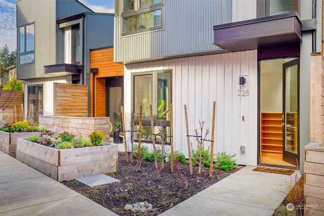
[[[142,136],[148,139],[152,134],[150,120],[150,105],[154,121],[154,134],[160,134],[159,127],[163,126],[167,135],[170,133],[170,103],[171,103],[171,72],[151,72],[133,76],[134,123],[138,124],[140,106],[142,106]],[[157,126],[156,126],[157,125]],[[161,137],[160,135],[158,135]],[[137,136],[135,135],[135,139]],[[167,139],[167,142],[170,138]]]

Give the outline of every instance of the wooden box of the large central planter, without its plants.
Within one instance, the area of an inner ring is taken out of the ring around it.
[[[17,160],[62,182],[80,177],[116,172],[118,145],[54,149],[23,139],[17,140]]]

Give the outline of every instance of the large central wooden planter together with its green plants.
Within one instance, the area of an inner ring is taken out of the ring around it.
[[[102,142],[103,135],[83,135],[42,131],[17,139],[17,160],[62,182],[117,171],[118,147]]]

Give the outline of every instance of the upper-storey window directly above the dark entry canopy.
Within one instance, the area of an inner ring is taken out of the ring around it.
[[[257,17],[298,12],[298,0],[258,0]]]

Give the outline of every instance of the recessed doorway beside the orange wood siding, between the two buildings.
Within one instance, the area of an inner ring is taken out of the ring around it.
[[[110,117],[110,122],[115,128],[116,123],[121,123],[121,106],[123,106],[124,77],[109,77],[106,79],[106,116]],[[113,136],[113,129],[110,136]]]

